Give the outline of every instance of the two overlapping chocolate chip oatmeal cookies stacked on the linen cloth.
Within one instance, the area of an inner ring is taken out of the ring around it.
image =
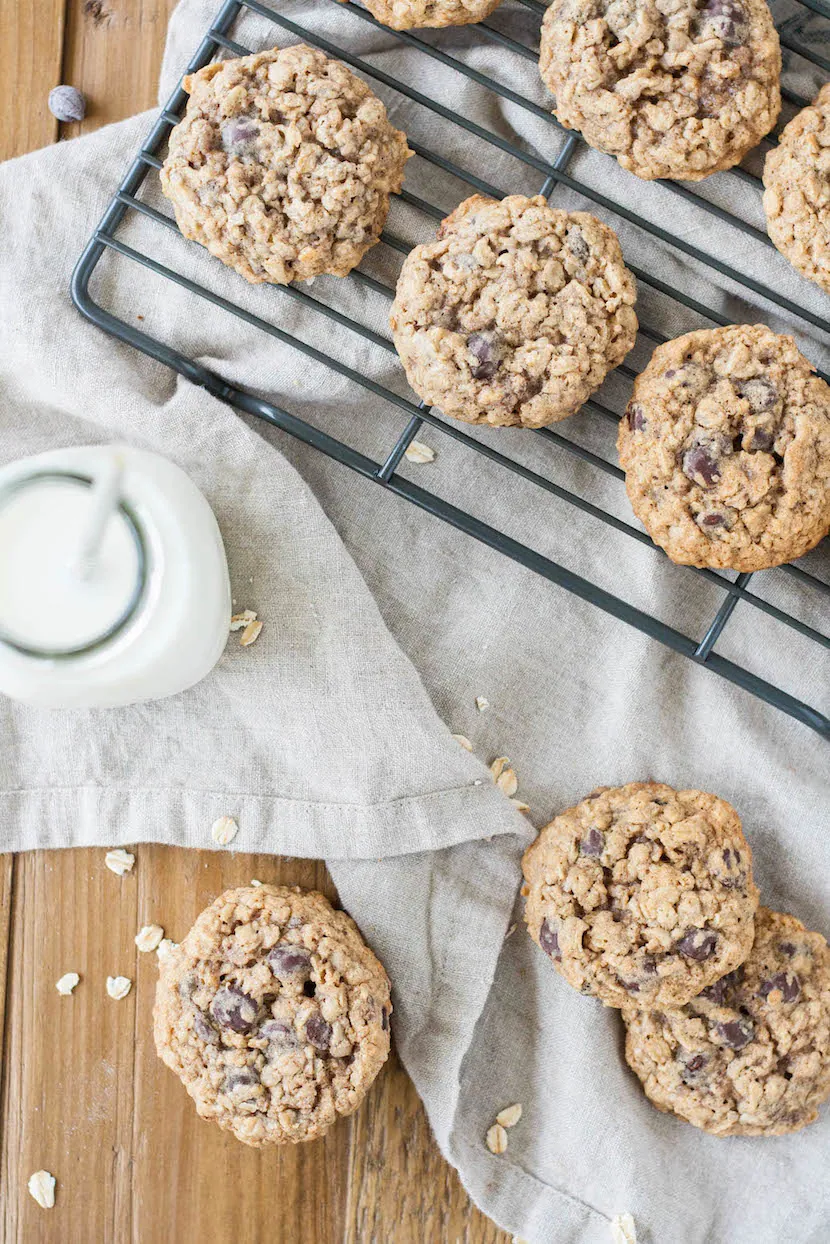
[[[717,1136],[778,1136],[830,1095],[830,949],[758,907],[734,809],[660,782],[600,787],[525,853],[530,935],[618,1008],[658,1110]]]

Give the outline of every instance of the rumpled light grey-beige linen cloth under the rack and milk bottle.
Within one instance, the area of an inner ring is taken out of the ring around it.
[[[184,0],[170,24],[166,98],[214,0]],[[795,6],[793,19],[800,10]],[[286,0],[279,12],[433,98],[550,158],[561,136],[450,67],[326,0]],[[798,20],[801,20],[798,17]],[[538,19],[506,4],[494,25],[533,42]],[[233,37],[279,40],[246,15]],[[475,30],[426,32],[495,77],[504,52]],[[287,35],[282,42],[296,41]],[[811,83],[799,66],[795,86]],[[535,65],[510,86],[545,103]],[[394,124],[493,184],[535,193],[541,175],[482,151],[391,88],[377,87]],[[133,118],[0,169],[4,230],[0,323],[0,458],[56,444],[122,439],[167,454],[208,495],[229,552],[234,596],[265,621],[258,643],[233,642],[204,683],[174,699],[107,713],[51,714],[0,704],[5,850],[134,841],[208,846],[212,821],[233,814],[240,850],[325,856],[343,906],[396,985],[396,1040],[438,1143],[497,1222],[536,1244],[610,1239],[631,1212],[652,1244],[765,1244],[826,1238],[823,1156],[830,1122],[774,1141],[716,1140],[658,1115],[626,1070],[615,1013],[572,993],[519,928],[519,855],[526,821],[482,760],[508,753],[520,795],[543,824],[592,786],[657,776],[714,790],[740,811],[770,906],[830,932],[826,875],[828,748],[806,728],[671,654],[591,606],[478,546],[311,449],[214,401],[167,368],[86,323],[68,302],[83,241],[151,124]],[[752,236],[687,208],[613,162],[582,152],[577,174],[821,316],[826,297]],[[450,209],[467,193],[414,159],[407,187]],[[702,193],[757,226],[757,192],[728,174]],[[148,184],[147,202],[169,215]],[[557,189],[557,205],[589,208]],[[779,307],[599,211],[630,261],[733,320],[796,326],[826,368],[828,338]],[[409,241],[433,225],[397,202],[389,229]],[[250,289],[178,235],[132,214],[119,236],[177,271],[406,392],[394,357],[285,291]],[[383,246],[367,271],[394,281]],[[314,297],[388,336],[388,301],[353,281],[317,279]],[[93,281],[102,305],[220,374],[268,396],[366,453],[388,450],[399,413],[271,337],[169,282],[107,255]],[[653,290],[638,312],[666,332],[699,326]],[[635,360],[646,356],[638,350]],[[625,384],[602,398],[617,408]],[[567,435],[613,460],[612,435],[577,415]],[[557,454],[539,437],[492,429],[489,444],[630,520],[616,480]],[[540,496],[437,430],[427,465],[402,470],[601,586],[689,634],[702,634],[719,593],[650,547]],[[633,547],[632,547],[633,545]],[[826,577],[830,557],[806,560]],[[820,626],[820,603],[780,572],[753,590]],[[825,622],[826,628],[826,622]],[[826,704],[828,653],[740,605],[718,651],[793,694]],[[477,697],[489,708],[479,712]],[[475,756],[450,738],[470,738]],[[478,759],[477,759],[478,758]],[[484,1133],[503,1106],[524,1115],[505,1154]]]

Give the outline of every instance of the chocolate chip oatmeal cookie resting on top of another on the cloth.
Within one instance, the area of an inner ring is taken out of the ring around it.
[[[752,853],[716,795],[600,786],[545,826],[523,870],[530,935],[607,1006],[681,1006],[752,947]]]

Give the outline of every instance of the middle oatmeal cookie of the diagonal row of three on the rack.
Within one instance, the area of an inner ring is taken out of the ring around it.
[[[394,345],[416,393],[465,423],[565,419],[633,346],[616,234],[541,195],[465,199],[407,256]]]

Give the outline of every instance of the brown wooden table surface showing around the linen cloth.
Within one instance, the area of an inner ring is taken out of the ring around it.
[[[0,4],[0,158],[152,106],[173,4]],[[82,126],[60,133],[46,106],[58,82],[88,100]],[[442,1159],[394,1055],[361,1110],[314,1144],[249,1149],[197,1117],[156,1057],[157,963],[136,932],[158,923],[178,940],[251,877],[333,888],[315,861],[134,853],[123,878],[103,850],[0,856],[2,1244],[509,1244]],[[81,975],[71,998],[55,989],[65,972]],[[108,975],[132,978],[123,1001],[107,996]],[[51,1210],[26,1191],[41,1167],[57,1178]]]

